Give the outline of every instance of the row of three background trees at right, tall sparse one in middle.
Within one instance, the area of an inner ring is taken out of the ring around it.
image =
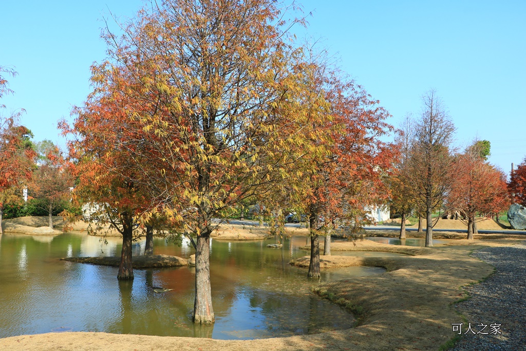
[[[406,236],[406,216],[426,218],[426,246],[432,246],[432,229],[445,209],[459,213],[473,238],[475,223],[509,207],[506,177],[490,165],[488,141],[475,141],[462,153],[451,149],[454,125],[440,98],[431,90],[422,97],[419,118],[406,118],[398,135],[400,162],[389,177],[391,210],[401,215],[400,238]]]

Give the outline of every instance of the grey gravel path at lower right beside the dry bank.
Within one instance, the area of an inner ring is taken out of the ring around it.
[[[526,350],[526,245],[484,248],[473,256],[497,271],[469,287],[471,298],[456,305],[468,322],[461,326],[461,338],[451,351]],[[462,322],[459,317],[452,323]],[[469,330],[470,323],[478,334]]]

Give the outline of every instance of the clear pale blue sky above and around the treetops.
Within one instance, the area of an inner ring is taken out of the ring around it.
[[[526,156],[526,1],[300,1],[309,28],[340,67],[379,99],[398,125],[418,116],[435,88],[457,127],[456,145],[491,142],[509,173]],[[90,91],[89,66],[105,57],[109,11],[133,16],[140,0],[9,1],[0,14],[0,65],[12,66],[6,114],[25,108],[35,141],[59,145],[57,120]],[[110,21],[114,28],[114,22]]]

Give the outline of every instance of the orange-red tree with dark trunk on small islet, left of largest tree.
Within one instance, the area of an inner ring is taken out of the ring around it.
[[[146,148],[148,133],[136,114],[155,107],[131,94],[141,86],[125,66],[112,68],[105,62],[93,66],[92,72],[94,91],[84,106],[74,109],[73,125],[61,124],[64,134],[74,136],[68,143],[69,171],[78,183],[73,197],[78,205],[87,205],[93,230],[104,232],[110,226],[122,234],[117,278],[133,279],[132,240],[140,235],[139,224],[146,227],[156,216],[145,179],[151,182],[161,173],[149,162],[153,151],[138,152]]]

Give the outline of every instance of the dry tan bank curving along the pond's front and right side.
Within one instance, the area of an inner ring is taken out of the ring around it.
[[[235,235],[234,230],[226,234]],[[257,233],[249,231],[249,234]],[[498,237],[449,240],[447,246],[433,248],[391,246],[370,240],[333,243],[332,256],[322,257],[325,267],[372,265],[387,269],[381,275],[341,279],[316,288],[317,294],[355,313],[359,324],[348,330],[246,341],[89,332],[48,333],[0,339],[0,349],[437,350],[457,336],[452,332],[451,323],[462,323],[462,316],[453,306],[454,302],[465,297],[462,287],[477,283],[493,272],[490,265],[471,256],[471,251],[484,246],[524,242],[524,239],[514,237],[505,239],[505,235]],[[338,256],[338,250],[386,250],[407,256],[357,259]]]

